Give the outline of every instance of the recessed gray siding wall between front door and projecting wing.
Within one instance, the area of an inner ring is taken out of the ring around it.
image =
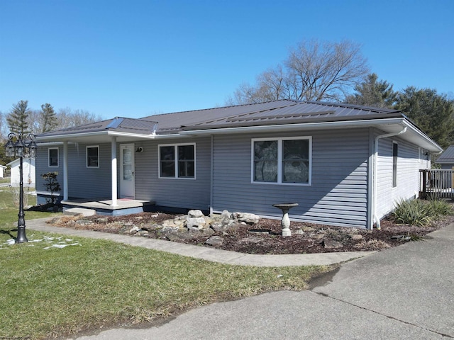
[[[195,143],[196,179],[160,179],[158,145]],[[170,208],[209,210],[211,137],[136,142],[135,198]]]

